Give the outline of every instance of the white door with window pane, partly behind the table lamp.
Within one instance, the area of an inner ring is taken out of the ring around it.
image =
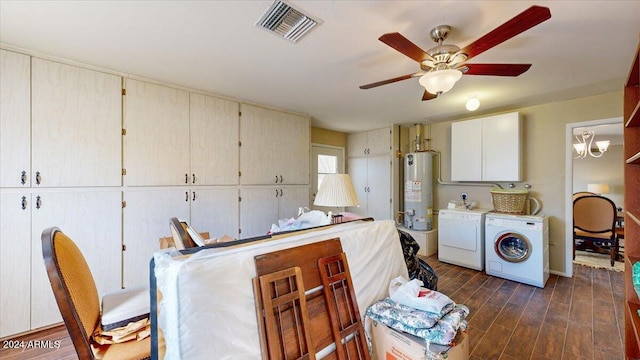
[[[325,207],[313,205],[316,193],[320,189],[325,174],[344,174],[344,148],[327,145],[311,146],[311,191],[309,205],[311,209],[326,211]]]

